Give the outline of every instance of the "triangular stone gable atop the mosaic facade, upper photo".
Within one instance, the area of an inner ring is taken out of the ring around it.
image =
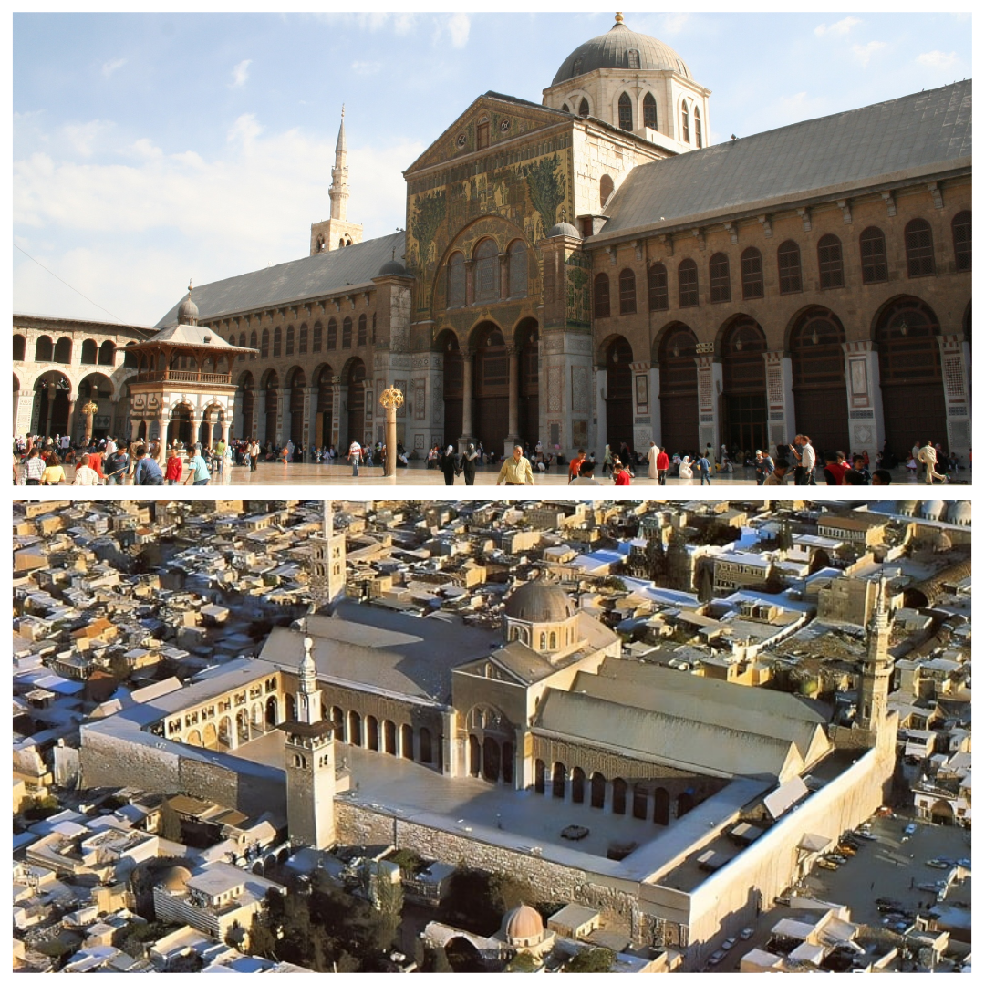
[[[427,151],[404,171],[404,176],[409,178],[435,164],[452,164],[475,155],[478,126],[484,117],[489,123],[490,134],[489,147],[483,148],[483,151],[495,150],[498,145],[506,144],[517,137],[573,119],[569,113],[550,109],[537,102],[515,99],[500,93],[485,93],[475,99]]]

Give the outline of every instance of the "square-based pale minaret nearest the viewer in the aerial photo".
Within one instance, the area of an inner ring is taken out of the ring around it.
[[[294,845],[329,848],[335,841],[335,726],[321,717],[313,649],[314,640],[305,636],[304,656],[297,669],[296,718],[281,726],[288,776],[288,836]]]

